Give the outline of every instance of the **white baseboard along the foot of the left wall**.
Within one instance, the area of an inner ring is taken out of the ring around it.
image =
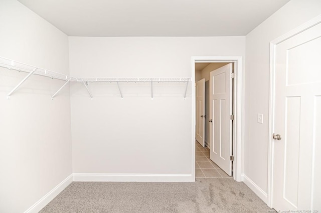
[[[72,182],[72,174],[70,174],[66,179],[49,191],[45,196],[28,208],[25,213],[39,212],[43,207],[45,207],[53,198],[55,198],[62,190],[64,190]]]

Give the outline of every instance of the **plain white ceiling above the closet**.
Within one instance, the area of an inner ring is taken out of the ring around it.
[[[246,35],[289,0],[19,0],[70,36]]]

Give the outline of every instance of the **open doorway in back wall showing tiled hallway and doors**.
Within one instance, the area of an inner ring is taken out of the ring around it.
[[[196,177],[232,176],[233,63],[195,63],[195,67],[196,140],[202,146],[196,146]]]

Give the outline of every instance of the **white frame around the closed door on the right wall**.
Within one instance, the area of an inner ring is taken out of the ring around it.
[[[274,132],[274,107],[275,107],[275,50],[276,45],[282,41],[300,33],[312,26],[321,23],[321,15],[303,23],[302,25],[294,28],[293,30],[285,33],[284,35],[270,41],[270,97],[269,97],[269,131],[268,131],[268,171],[267,171],[267,205],[273,207],[273,159],[274,159],[274,139],[272,134]]]

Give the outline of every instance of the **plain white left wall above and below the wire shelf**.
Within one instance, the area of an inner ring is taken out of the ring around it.
[[[0,56],[69,72],[68,36],[16,0],[0,1]],[[72,173],[69,88],[0,68],[0,212],[23,212]]]

